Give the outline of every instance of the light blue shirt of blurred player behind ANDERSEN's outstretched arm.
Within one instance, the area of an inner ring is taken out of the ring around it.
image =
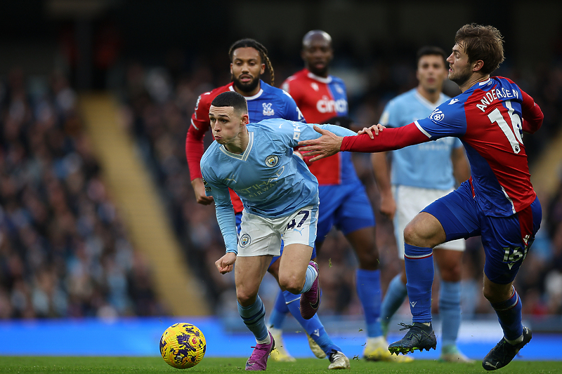
[[[398,95],[389,101],[381,115],[380,123],[398,128],[417,119],[426,118],[442,102],[449,100],[441,93],[436,104],[426,100],[417,88]],[[462,147],[458,138],[440,138],[434,142],[410,145],[392,153],[391,183],[431,189],[451,189],[455,186],[452,175],[451,152]]]

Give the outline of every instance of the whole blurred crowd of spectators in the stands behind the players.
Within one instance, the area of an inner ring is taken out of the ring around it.
[[[400,55],[415,55],[410,52]],[[198,95],[230,81],[226,51],[224,55],[219,59],[198,55],[186,62],[176,51],[156,67],[129,62],[122,74],[112,73],[114,79],[121,79],[110,84],[121,99],[124,126],[159,187],[185,258],[206,285],[204,292],[218,315],[237,313],[234,281],[233,276],[216,271],[214,262],[224,253],[223,240],[213,206],[195,202],[185,160],[185,134]],[[412,59],[373,58],[356,66],[350,62],[353,56],[342,55],[336,51],[332,74],[348,82],[349,108],[358,128],[376,123],[388,100],[417,85]],[[299,59],[270,58],[275,86],[302,67]],[[542,129],[525,137],[532,171],[542,149],[562,126],[562,58],[549,67],[537,67],[532,74],[507,63],[496,74],[514,79],[544,112]],[[3,78],[0,318],[161,314],[164,309],[155,298],[150,267],[131,246],[107,194],[77,112],[76,94],[65,76],[53,74],[48,87],[34,87],[34,91],[18,70]],[[454,84],[447,85],[445,92],[458,93]],[[209,133],[205,142],[211,141]],[[355,154],[354,161],[377,213],[386,290],[399,269],[393,227],[378,214],[379,195],[369,156]],[[540,196],[542,229],[516,279],[523,312],[528,315],[562,314],[562,171],[558,180],[554,196]],[[320,314],[362,314],[355,295],[355,255],[341,234],[329,235],[319,263]],[[492,312],[481,293],[482,269],[481,242],[469,239],[464,257],[464,318]],[[262,298],[269,308],[277,289],[273,277],[266,276],[262,287],[267,289]],[[437,304],[433,302],[433,307]]]

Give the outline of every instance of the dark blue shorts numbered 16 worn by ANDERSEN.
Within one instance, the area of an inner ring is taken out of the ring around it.
[[[540,228],[539,199],[509,217],[485,215],[472,197],[468,181],[426,206],[422,212],[437,218],[447,241],[481,236],[485,253],[484,274],[494,283],[511,283]]]

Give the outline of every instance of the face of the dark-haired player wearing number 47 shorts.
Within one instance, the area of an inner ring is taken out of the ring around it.
[[[229,145],[240,135],[242,128],[248,123],[247,113],[237,113],[233,107],[209,108],[209,120],[213,138],[221,145]]]

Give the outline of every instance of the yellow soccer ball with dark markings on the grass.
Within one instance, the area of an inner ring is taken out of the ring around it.
[[[200,363],[207,342],[201,330],[190,323],[175,323],[160,338],[162,359],[174,368],[187,369]]]

